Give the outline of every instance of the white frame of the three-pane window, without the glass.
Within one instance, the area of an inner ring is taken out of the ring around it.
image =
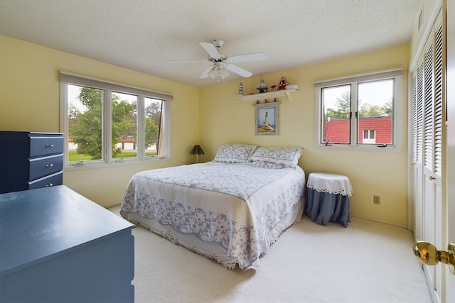
[[[90,160],[87,162],[68,161],[68,84],[102,89],[102,159]],[[137,157],[135,158],[112,158],[112,149],[106,148],[112,143],[112,94],[124,93],[137,96]],[[145,153],[145,109],[144,100],[146,98],[159,99],[163,102],[161,119],[161,138],[164,154],[147,157]],[[104,79],[86,77],[73,74],[71,72],[60,71],[60,132],[64,133],[64,166],[65,170],[83,170],[92,168],[112,167],[117,165],[137,165],[144,162],[156,162],[168,160],[171,155],[171,132],[170,132],[170,112],[173,96],[163,92],[156,92],[140,87],[133,87],[127,84],[109,82]],[[144,149],[144,150],[143,150]]]

